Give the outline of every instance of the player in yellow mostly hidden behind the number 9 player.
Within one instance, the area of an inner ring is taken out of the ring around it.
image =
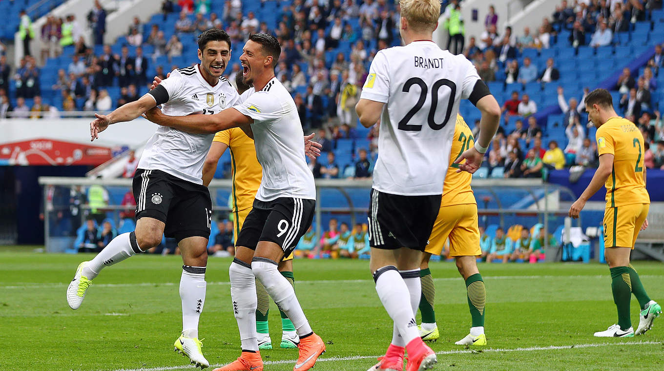
[[[238,92],[242,94],[249,87],[242,82],[242,74],[236,78]],[[305,138],[305,152],[309,157],[320,155],[319,144],[311,141],[313,134]],[[315,144],[314,144],[315,143]],[[318,145],[318,146],[317,146]],[[232,170],[232,212],[233,212],[233,236],[237,240],[238,234],[242,229],[244,218],[252,210],[254,198],[260,181],[263,177],[263,169],[256,159],[256,147],[254,139],[248,137],[239,127],[233,127],[228,130],[220,131],[214,135],[210,151],[208,151],[205,165],[203,165],[203,184],[208,186],[217,163],[221,155],[230,150],[231,170]],[[295,278],[293,276],[293,254],[290,254],[279,263],[279,271],[295,288]],[[258,348],[272,349],[272,340],[268,327],[268,311],[270,309],[270,295],[264,285],[256,279],[256,296],[258,297],[258,306],[256,308],[256,332],[258,333]],[[295,327],[286,313],[280,310],[282,315],[282,342],[281,348],[297,348],[299,338],[295,332]]]

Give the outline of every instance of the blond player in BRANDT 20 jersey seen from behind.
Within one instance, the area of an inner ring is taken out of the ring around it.
[[[380,50],[356,106],[365,127],[380,119],[378,160],[369,204],[370,269],[394,321],[392,342],[371,370],[432,368],[436,354],[418,333],[420,261],[440,208],[459,101],[482,113],[475,147],[457,159],[473,173],[498,127],[500,108],[473,64],[432,42],[440,0],[401,0],[406,46]]]

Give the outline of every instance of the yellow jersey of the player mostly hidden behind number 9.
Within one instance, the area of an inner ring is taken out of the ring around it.
[[[239,127],[219,131],[214,141],[228,145],[233,188],[231,193],[233,212],[252,207],[256,192],[263,178],[263,168],[256,159],[254,139]]]

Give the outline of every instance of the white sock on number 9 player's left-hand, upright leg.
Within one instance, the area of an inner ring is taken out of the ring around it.
[[[256,338],[256,277],[244,261],[234,259],[228,268],[230,275],[230,298],[233,301],[233,313],[238,321],[242,350],[258,352]]]

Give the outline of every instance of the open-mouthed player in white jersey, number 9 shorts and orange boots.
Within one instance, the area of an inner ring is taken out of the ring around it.
[[[216,115],[174,117],[153,109],[146,116],[159,125],[190,133],[240,127],[254,139],[256,157],[263,168],[254,206],[244,220],[235,243],[235,259],[228,269],[242,354],[216,371],[263,370],[256,338],[255,278],[293,321],[299,336],[299,358],[293,370],[309,370],[325,351],[325,343],[311,331],[293,287],[278,271],[278,263],[311,225],[315,184],[305,161],[295,102],[274,76],[281,54],[279,42],[272,35],[258,33],[249,37],[242,51],[242,76],[254,87],[242,94],[241,104]]]

